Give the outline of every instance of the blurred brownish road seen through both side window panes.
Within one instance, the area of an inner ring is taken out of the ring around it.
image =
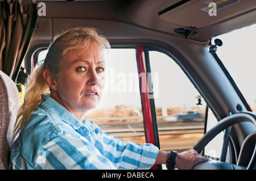
[[[142,121],[110,121],[99,125],[102,131],[122,140],[145,142]],[[204,121],[158,121],[158,130],[160,149],[184,151],[193,148],[203,136]]]

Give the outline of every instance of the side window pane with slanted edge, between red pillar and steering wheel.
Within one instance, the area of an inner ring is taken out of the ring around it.
[[[160,148],[191,149],[204,134],[206,104],[175,61],[157,51],[149,56],[152,74],[159,74],[152,82]]]

